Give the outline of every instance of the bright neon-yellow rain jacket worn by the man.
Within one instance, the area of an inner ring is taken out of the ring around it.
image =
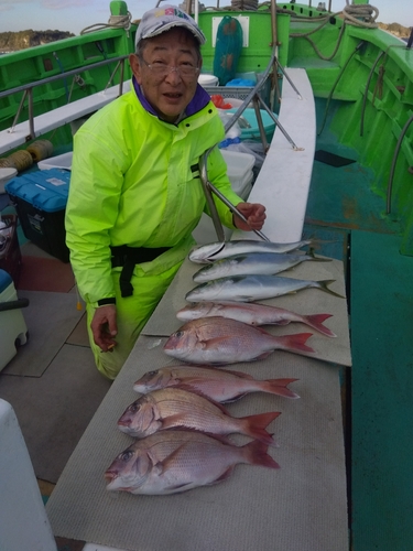
[[[196,94],[206,93],[198,87]],[[148,276],[166,272],[188,253],[194,242],[191,234],[203,210],[207,212],[198,160],[224,138],[209,97],[204,104],[172,125],[144,108],[132,88],[76,132],[66,242],[87,303],[96,306],[98,300],[118,295],[109,246],[172,247],[139,264]],[[231,191],[226,170],[221,153],[214,150],[208,177],[237,205],[242,199]],[[216,204],[222,224],[232,228],[228,207],[220,201]]]

